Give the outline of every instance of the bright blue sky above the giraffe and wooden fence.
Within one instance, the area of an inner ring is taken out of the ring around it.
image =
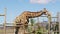
[[[35,1],[35,2],[34,2]],[[60,12],[60,0],[0,0],[0,14],[4,14],[4,8],[7,8],[7,22],[12,22],[16,16],[23,11],[40,11],[46,8],[52,16]],[[37,1],[37,2],[36,2]],[[3,22],[0,17],[0,22]]]

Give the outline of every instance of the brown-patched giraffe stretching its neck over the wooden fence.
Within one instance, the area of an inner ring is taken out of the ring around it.
[[[24,25],[25,29],[28,27],[28,23],[29,23],[29,18],[35,18],[35,17],[39,17],[41,15],[47,15],[48,11],[44,8],[44,10],[39,11],[39,12],[30,12],[30,11],[24,11],[21,15],[17,16],[15,19],[15,23],[17,23],[16,25]],[[50,14],[49,14],[50,15]],[[25,25],[27,24],[27,25]],[[18,34],[20,27],[16,27],[16,31],[15,34]]]

